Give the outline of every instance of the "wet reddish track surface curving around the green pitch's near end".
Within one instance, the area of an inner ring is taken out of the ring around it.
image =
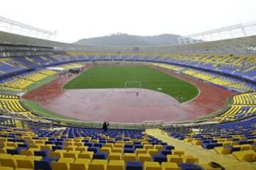
[[[178,103],[174,98],[148,89],[63,90],[73,77],[62,76],[23,98],[36,101],[53,113],[85,121],[142,123],[145,120],[181,121],[201,118],[223,108],[232,93],[183,74],[157,67],[178,79],[191,82],[200,94],[191,101]]]

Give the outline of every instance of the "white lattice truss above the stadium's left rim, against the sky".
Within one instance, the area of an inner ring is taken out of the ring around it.
[[[57,37],[56,31],[52,32],[49,30],[43,30],[41,28],[36,28],[24,23],[19,23],[17,21],[13,21],[9,18],[4,18],[2,16],[0,16],[0,28],[1,30],[9,33],[27,35],[36,38],[43,38],[46,40],[55,39]]]

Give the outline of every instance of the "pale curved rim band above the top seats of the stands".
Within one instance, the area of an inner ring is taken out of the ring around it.
[[[134,47],[112,46],[85,46],[64,42],[30,38],[0,31],[0,43],[17,45],[36,45],[54,47],[55,50],[78,50],[97,52],[134,52]],[[138,52],[172,52],[172,53],[256,53],[256,35],[216,40],[210,42],[197,42],[188,45],[172,45],[159,47],[137,47]]]

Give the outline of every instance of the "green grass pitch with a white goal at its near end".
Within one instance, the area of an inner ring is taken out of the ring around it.
[[[171,77],[151,67],[142,66],[100,66],[92,67],[63,86],[64,89],[124,88],[126,81],[141,81],[142,88],[161,91],[180,102],[189,101],[198,95],[196,86]],[[139,84],[129,84],[137,87]],[[158,89],[161,90],[158,90]]]

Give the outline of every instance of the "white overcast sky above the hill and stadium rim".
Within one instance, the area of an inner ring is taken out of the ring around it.
[[[0,16],[75,42],[113,33],[189,35],[256,21],[255,0],[1,0]]]

